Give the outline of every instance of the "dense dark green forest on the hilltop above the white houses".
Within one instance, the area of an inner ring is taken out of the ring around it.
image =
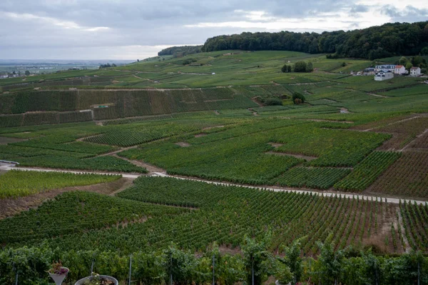
[[[397,55],[428,54],[428,21],[389,23],[353,31],[317,33],[244,32],[215,36],[205,41],[203,51],[242,49],[247,51],[302,51],[330,54],[332,58],[381,59]]]

